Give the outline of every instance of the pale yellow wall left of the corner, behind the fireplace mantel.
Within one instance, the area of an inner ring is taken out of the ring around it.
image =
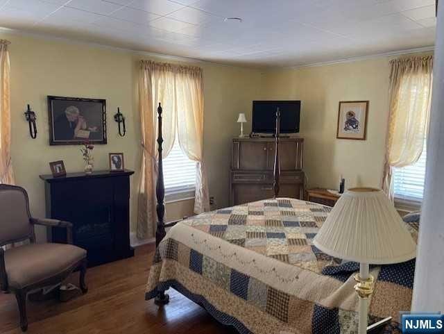
[[[138,61],[177,60],[141,55],[131,51],[96,47],[0,32],[8,39],[11,58],[12,162],[16,182],[28,190],[31,210],[44,217],[44,183],[39,174],[49,174],[48,162],[64,160],[67,172],[83,170],[78,146],[49,146],[47,95],[106,99],[108,144],[94,148],[94,168],[108,169],[108,153],[123,152],[125,165],[136,174],[131,183],[131,226],[135,227],[139,181],[140,131],[136,83]],[[218,206],[228,205],[230,138],[237,133],[238,112],[250,108],[259,92],[260,73],[239,67],[198,62],[205,83],[204,162],[210,195]],[[23,112],[26,104],[37,113],[37,139],[28,134]],[[126,116],[126,137],[119,137],[112,116],[117,107]],[[87,195],[87,193],[85,193]],[[193,201],[167,205],[167,219],[191,215]],[[43,237],[42,230],[39,231]]]

